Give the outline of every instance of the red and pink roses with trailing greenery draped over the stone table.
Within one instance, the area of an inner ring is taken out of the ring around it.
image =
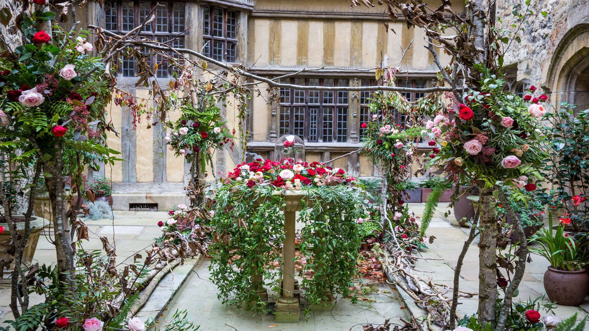
[[[216,233],[210,269],[224,303],[240,306],[253,301],[257,302],[254,308],[262,310],[266,307],[255,288],[280,289],[281,273],[266,270],[280,261],[277,247],[284,240],[281,193],[292,190],[304,191],[308,198],[301,201],[306,208],[298,213],[305,226],[297,246],[299,256],[307,261],[299,269],[299,275],[305,275],[299,287],[305,289],[307,301],[325,302],[326,289],[344,296],[351,293],[349,284],[356,277],[360,248],[358,219],[372,206],[366,192],[340,168],[258,159],[237,165],[219,179],[214,190],[211,225]],[[262,273],[264,279],[253,282],[252,273]]]

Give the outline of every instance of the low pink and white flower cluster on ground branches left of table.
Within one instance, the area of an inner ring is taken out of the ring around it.
[[[157,243],[183,246],[190,254],[207,254],[213,228],[209,226],[214,211],[203,208],[188,208],[186,204],[178,204],[168,212],[166,221],[158,221],[162,231]]]

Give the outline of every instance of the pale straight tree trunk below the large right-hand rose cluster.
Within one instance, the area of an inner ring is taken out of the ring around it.
[[[495,324],[497,304],[497,210],[491,202],[493,189],[479,183],[481,216],[479,218],[479,306],[478,321],[481,325]]]

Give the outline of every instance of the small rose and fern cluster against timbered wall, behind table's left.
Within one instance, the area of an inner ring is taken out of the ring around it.
[[[220,109],[213,97],[206,98],[201,108],[183,104],[180,112],[178,120],[166,121],[171,132],[164,139],[174,155],[186,157],[191,163],[193,155],[201,151],[210,159],[212,150],[227,145],[233,147],[233,136],[223,127],[225,121],[221,121]],[[205,160],[203,158],[203,164]]]

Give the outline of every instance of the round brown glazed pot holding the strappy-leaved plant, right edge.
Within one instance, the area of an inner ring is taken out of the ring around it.
[[[566,271],[548,267],[544,273],[544,290],[548,299],[563,306],[578,306],[585,300],[589,276],[585,269]]]

